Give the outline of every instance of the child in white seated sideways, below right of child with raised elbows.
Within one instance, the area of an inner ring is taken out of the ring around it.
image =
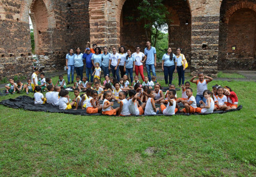
[[[212,98],[212,92],[210,90],[204,90],[203,96],[206,99],[206,103],[204,103],[202,100],[200,101],[201,113],[203,113],[203,114],[213,113],[214,100]]]

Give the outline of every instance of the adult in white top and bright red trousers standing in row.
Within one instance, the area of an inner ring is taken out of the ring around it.
[[[140,52],[140,46],[136,46],[136,52],[132,54],[132,56],[135,59],[135,74],[138,76],[140,74],[141,79],[143,82],[145,81],[144,79],[144,74],[143,74],[143,63],[146,60],[145,54]]]

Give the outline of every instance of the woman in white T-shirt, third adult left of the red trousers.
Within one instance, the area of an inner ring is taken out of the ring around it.
[[[114,78],[117,78],[118,81],[120,81],[119,77],[119,63],[121,60],[121,56],[117,53],[116,47],[112,47],[112,54],[109,58],[109,70],[112,70],[112,74]],[[111,66],[111,67],[110,67]]]

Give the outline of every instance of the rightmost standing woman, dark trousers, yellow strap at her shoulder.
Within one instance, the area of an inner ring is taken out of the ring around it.
[[[175,58],[176,61],[176,65],[175,65],[175,72],[178,72],[178,76],[179,76],[179,86],[181,87],[181,83],[182,85],[184,85],[184,81],[185,81],[185,66],[186,66],[186,58],[183,54],[181,54],[182,49],[178,48],[177,49],[177,55]],[[184,63],[184,66],[182,65],[182,61]],[[181,82],[182,80],[182,82]]]

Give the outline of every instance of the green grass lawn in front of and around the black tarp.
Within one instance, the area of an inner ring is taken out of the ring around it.
[[[256,83],[213,81],[208,89],[215,84],[230,86],[243,109],[206,116],[105,117],[0,105],[0,176],[255,177]]]

